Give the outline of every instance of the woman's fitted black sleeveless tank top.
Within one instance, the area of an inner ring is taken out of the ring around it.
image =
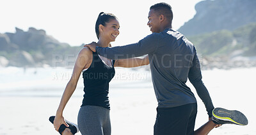
[[[93,52],[93,60],[90,67],[83,72],[84,99],[82,106],[101,106],[110,109],[109,106],[109,82],[115,75],[115,60],[112,67],[104,64],[97,52]]]

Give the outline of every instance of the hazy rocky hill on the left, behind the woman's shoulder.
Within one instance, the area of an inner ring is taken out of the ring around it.
[[[81,47],[60,43],[42,29],[0,33],[0,67],[73,66]],[[73,63],[72,63],[73,62]]]

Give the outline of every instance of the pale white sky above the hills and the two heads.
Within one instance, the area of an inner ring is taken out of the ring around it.
[[[15,33],[33,27],[44,29],[59,42],[77,46],[97,42],[95,22],[100,12],[113,13],[120,23],[120,35],[111,45],[138,42],[150,35],[147,17],[150,6],[168,3],[173,10],[173,28],[179,29],[195,15],[202,0],[8,0],[0,1],[0,33]]]

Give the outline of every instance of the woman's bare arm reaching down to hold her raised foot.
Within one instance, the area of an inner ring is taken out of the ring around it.
[[[67,123],[63,118],[63,110],[68,100],[70,99],[71,95],[76,90],[77,81],[81,75],[81,72],[83,71],[84,68],[90,67],[91,63],[92,63],[92,51],[90,51],[88,47],[84,47],[83,49],[81,49],[81,51],[77,55],[72,76],[70,78],[70,81],[68,81],[65,91],[61,97],[60,105],[58,107],[58,110],[56,112],[56,116],[54,119],[54,128],[56,131],[58,131],[62,123],[68,127]]]

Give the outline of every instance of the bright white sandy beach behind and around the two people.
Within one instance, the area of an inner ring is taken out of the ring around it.
[[[129,73],[128,75],[131,75],[134,73],[137,77],[135,79],[130,77],[129,79],[127,75],[124,75],[126,78],[119,75],[110,84],[109,99],[113,135],[153,134],[157,102],[150,81],[150,72],[142,72],[141,70],[116,69],[116,74]],[[3,75],[3,72],[0,72],[0,74]],[[140,79],[138,74],[141,75]],[[218,129],[213,129],[210,134],[256,134],[256,118],[254,117],[256,109],[252,107],[255,103],[255,77],[253,75],[256,74],[256,68],[204,70],[202,74],[214,106],[237,109],[243,112],[249,121],[246,126],[223,125]],[[49,78],[52,79],[52,76]],[[45,78],[43,79],[45,80]],[[20,86],[22,90],[18,90],[18,88],[13,90],[1,89],[0,120],[3,121],[0,124],[1,135],[58,134],[48,118],[55,115],[63,92],[61,89],[65,88],[67,80],[57,82],[50,80],[49,82],[55,83],[56,88],[47,88],[47,81],[45,81],[45,88],[42,85],[37,89],[29,87],[29,90],[24,89],[26,86]],[[0,86],[5,85],[0,83]],[[193,86],[190,83],[188,83],[188,86],[196,95]],[[82,99],[83,86],[77,86],[77,90],[69,100],[63,113],[67,120],[77,123],[77,113]],[[195,129],[207,121],[204,104],[197,95],[196,99],[198,101],[198,115]]]

